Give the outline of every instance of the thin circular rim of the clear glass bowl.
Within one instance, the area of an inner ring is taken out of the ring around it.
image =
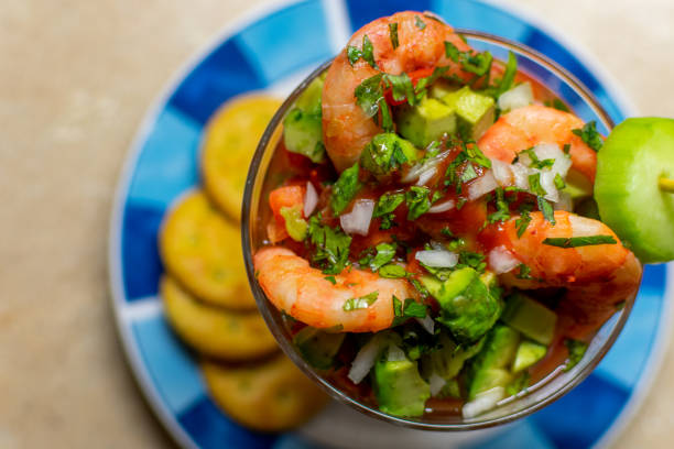
[[[461,34],[468,39],[477,39],[481,41],[486,41],[489,43],[498,44],[508,47],[508,50],[513,50],[517,53],[525,55],[528,58],[534,61],[536,64],[545,67],[550,72],[554,73],[555,76],[562,78],[565,83],[567,83],[575,90],[577,95],[579,95],[583,100],[590,107],[590,109],[597,113],[597,116],[602,120],[604,124],[607,127],[608,131],[610,131],[613,127],[613,120],[608,114],[606,109],[601,106],[595,95],[573,74],[570,74],[566,68],[562,67],[559,64],[551,59],[550,57],[541,54],[540,52],[515,41],[511,41],[501,36],[497,36],[494,34],[466,30],[466,29],[455,29],[455,32]],[[366,404],[360,403],[356,398],[345,394],[339,388],[329,384],[326,380],[323,379],[318,373],[312,369],[306,361],[297,353],[294,349],[292,342],[286,339],[283,330],[278,326],[278,322],[272,315],[273,305],[269,303],[267,296],[260,285],[257,282],[257,276],[254,273],[254,266],[252,261],[252,251],[253,247],[251,230],[251,221],[250,221],[250,212],[251,212],[251,200],[253,194],[253,187],[256,185],[258,172],[260,169],[260,165],[265,155],[265,149],[268,147],[270,141],[273,138],[276,129],[281,124],[284,119],[287,110],[294,103],[296,98],[304,91],[304,89],[308,86],[311,81],[313,81],[318,75],[325,72],[330,64],[333,63],[333,58],[320,64],[315,70],[313,70],[302,83],[297,85],[297,87],[292,91],[292,94],[283,101],[279,110],[275,112],[271,121],[269,122],[258,147],[253,154],[247,179],[246,179],[246,189],[243,194],[243,201],[241,206],[241,243],[243,248],[243,259],[246,264],[246,272],[248,274],[249,284],[253,296],[256,298],[256,303],[258,308],[267,322],[267,326],[271,330],[272,335],[279,342],[279,346],[285,352],[285,354],[302,370],[302,372],[312,379],[315,383],[317,383],[326,393],[328,393],[333,398],[339,401],[343,404],[347,404],[350,407],[357,409],[358,412],[363,413],[367,416],[374,417],[377,419],[395,424],[399,426],[404,426],[414,429],[422,430],[441,430],[441,431],[464,431],[464,430],[477,430],[497,427],[500,425],[504,425],[508,423],[512,423],[517,419],[523,418],[525,416],[531,415],[532,413],[552,404],[556,399],[564,396],[570,390],[576,387],[580,382],[583,382],[599,364],[601,359],[606,355],[608,350],[613,346],[616,339],[621,333],[627,319],[630,316],[632,310],[632,306],[634,303],[634,297],[629,298],[626,302],[626,306],[617,313],[618,319],[617,322],[613,324],[613,328],[610,335],[607,337],[606,341],[601,343],[601,347],[597,351],[596,355],[589,359],[584,363],[578,371],[576,371],[575,375],[570,377],[561,388],[555,390],[552,394],[545,396],[543,399],[530,404],[524,408],[517,410],[514,413],[499,416],[496,418],[485,419],[485,420],[471,420],[464,423],[423,423],[417,420],[409,420],[404,417],[396,417],[392,415],[388,415],[383,412],[380,412],[376,408],[372,408]],[[613,315],[616,317],[616,315]],[[608,322],[608,321],[607,321]],[[606,324],[605,324],[606,325]],[[575,370],[574,370],[575,371]],[[554,373],[554,372],[553,372]]]

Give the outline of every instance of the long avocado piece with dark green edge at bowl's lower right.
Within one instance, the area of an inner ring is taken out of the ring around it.
[[[496,325],[489,333],[482,350],[472,359],[468,372],[468,399],[474,399],[478,393],[494,386],[506,387],[512,381],[508,370],[512,363],[520,332],[504,326]]]

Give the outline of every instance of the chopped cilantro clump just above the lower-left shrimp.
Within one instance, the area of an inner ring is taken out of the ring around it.
[[[312,261],[323,269],[325,274],[338,274],[349,261],[351,238],[339,228],[330,228],[320,223],[320,216],[309,219],[308,236],[315,247]]]

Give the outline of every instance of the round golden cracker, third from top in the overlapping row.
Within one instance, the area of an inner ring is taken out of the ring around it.
[[[249,361],[279,349],[257,311],[241,314],[203,304],[171,276],[162,278],[161,294],[173,329],[203,354],[227,361]]]

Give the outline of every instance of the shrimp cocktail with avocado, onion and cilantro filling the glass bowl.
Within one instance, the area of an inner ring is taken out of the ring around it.
[[[254,278],[335,390],[474,418],[570,370],[637,294],[650,250],[599,219],[632,176],[594,195],[604,144],[513,53],[428,13],[378,19],[283,119]]]

